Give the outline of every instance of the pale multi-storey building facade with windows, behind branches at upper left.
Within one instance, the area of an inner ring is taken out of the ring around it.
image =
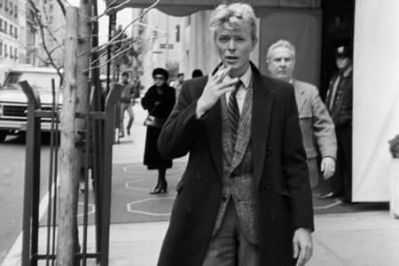
[[[26,0],[0,0],[0,82],[15,66],[51,66],[44,45],[51,51],[55,65],[63,65],[65,16],[59,3],[57,0],[33,0],[33,3],[41,17],[44,40],[35,10]]]

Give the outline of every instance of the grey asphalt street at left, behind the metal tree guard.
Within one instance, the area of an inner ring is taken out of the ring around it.
[[[0,265],[22,231],[25,178],[25,136],[9,136],[0,143]],[[47,191],[49,141],[44,135],[41,153],[41,199]]]

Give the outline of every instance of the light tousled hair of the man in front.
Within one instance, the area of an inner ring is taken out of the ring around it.
[[[243,3],[220,4],[212,12],[209,28],[215,37],[216,31],[222,27],[234,29],[242,27],[244,23],[248,23],[251,30],[251,38],[253,41],[256,40],[256,16],[252,6]]]

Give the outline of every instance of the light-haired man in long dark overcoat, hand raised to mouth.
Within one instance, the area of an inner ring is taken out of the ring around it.
[[[158,265],[304,265],[312,195],[292,85],[249,61],[248,4],[221,4],[210,28],[222,63],[183,83],[158,148],[190,153]]]

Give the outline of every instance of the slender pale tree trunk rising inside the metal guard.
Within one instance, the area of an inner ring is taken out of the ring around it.
[[[79,176],[75,176],[76,149],[74,113],[76,109],[76,55],[78,45],[78,9],[66,7],[66,35],[64,54],[63,106],[60,117],[59,149],[59,212],[57,264],[74,266],[74,238],[77,231],[76,215]]]

